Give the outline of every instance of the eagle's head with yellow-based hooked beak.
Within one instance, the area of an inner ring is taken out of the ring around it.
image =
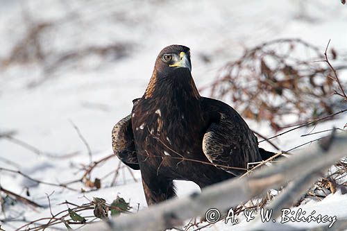
[[[181,68],[192,71],[190,49],[187,46],[167,46],[160,51],[157,60],[155,60],[155,70],[161,73],[172,74]]]

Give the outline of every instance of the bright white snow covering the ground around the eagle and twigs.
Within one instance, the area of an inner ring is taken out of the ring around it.
[[[217,76],[217,71],[226,62],[238,58],[245,46],[266,40],[299,37],[321,47],[323,53],[331,39],[331,46],[346,52],[346,10],[347,6],[341,5],[338,0],[287,0],[280,3],[270,0],[1,0],[1,60],[8,57],[13,47],[23,39],[31,23],[53,23],[53,26],[47,26],[38,38],[48,63],[31,60],[8,67],[0,65],[0,132],[15,130],[15,137],[40,151],[57,156],[74,152],[78,155],[46,157],[8,139],[0,139],[0,167],[19,169],[46,182],[81,178],[83,172],[78,168],[81,164],[88,164],[89,157],[71,121],[90,145],[94,161],[112,153],[112,126],[130,112],[131,101],[142,96],[153,71],[155,57],[164,46],[184,44],[191,48],[192,74],[196,85],[202,87]],[[43,68],[60,55],[114,44],[121,47],[121,51],[109,55],[85,53],[83,57],[70,59],[53,71],[46,72]],[[206,62],[205,57],[210,61]],[[341,78],[347,79],[346,72]],[[201,94],[208,96],[209,92]],[[343,128],[346,118],[347,115],[343,114],[340,119],[321,123],[315,129]],[[248,124],[264,135],[271,135],[265,123],[248,121]],[[289,132],[275,142],[282,150],[288,150],[325,135],[300,137],[310,129]],[[271,150],[271,146],[264,142],[261,146]],[[17,165],[12,166],[6,160]],[[136,182],[127,170],[121,171],[114,187],[108,186],[112,175],[103,178],[117,165],[117,158],[112,158],[93,171],[93,178],[101,178],[102,188],[85,194],[49,185],[32,186],[30,180],[0,171],[2,187],[25,196],[25,188],[31,186],[28,198],[45,206],[44,209],[31,209],[20,203],[6,206],[6,218],[18,220],[25,217],[32,221],[49,216],[46,194],[52,191],[53,213],[66,209],[66,205],[57,205],[65,200],[87,203],[85,197],[92,199],[96,196],[110,203],[117,194],[130,200],[134,211],[138,204],[139,209],[144,209],[146,203],[139,171],[133,172]],[[200,190],[191,182],[177,182],[177,185],[178,196]],[[81,183],[71,187],[87,189]],[[347,195],[338,192],[319,203],[312,201],[301,207],[346,219]],[[4,217],[1,213],[0,219]],[[22,224],[24,222],[12,221],[4,223],[1,228],[13,230]],[[247,225],[245,221],[232,226],[217,223],[205,230],[247,230]]]

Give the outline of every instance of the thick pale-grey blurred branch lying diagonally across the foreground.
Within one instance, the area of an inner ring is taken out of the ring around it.
[[[170,199],[137,214],[123,215],[107,223],[89,225],[85,230],[165,230],[181,225],[194,216],[201,216],[210,208],[226,211],[268,189],[325,169],[344,157],[346,150],[347,135],[346,132],[341,132],[334,139],[330,139],[328,145],[324,142],[314,143],[309,149],[296,153],[285,162],[255,171],[248,178],[226,180],[206,187],[201,194]]]

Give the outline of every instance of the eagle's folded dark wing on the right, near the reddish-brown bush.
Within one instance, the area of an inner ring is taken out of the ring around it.
[[[212,164],[239,176],[248,162],[262,160],[257,137],[233,108],[205,97],[201,99],[201,108],[210,121],[203,135],[203,153]]]

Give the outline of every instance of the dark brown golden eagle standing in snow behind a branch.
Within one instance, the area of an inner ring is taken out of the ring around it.
[[[147,203],[176,195],[173,180],[203,188],[244,173],[248,162],[271,155],[229,105],[200,96],[187,46],[160,51],[133,111],[112,130],[114,153],[140,169]]]

